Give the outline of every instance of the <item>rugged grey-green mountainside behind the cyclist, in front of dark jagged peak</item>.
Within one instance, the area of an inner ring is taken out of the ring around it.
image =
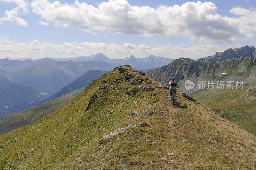
[[[206,81],[244,81],[244,87],[256,87],[256,55],[246,58],[229,59],[222,62],[196,62],[189,58],[179,58],[172,63],[155,70],[145,72],[150,78],[165,85],[174,77],[180,86],[180,90],[195,94],[198,91],[197,82]],[[225,73],[225,74],[222,74]],[[185,89],[186,80],[194,82],[193,89]]]

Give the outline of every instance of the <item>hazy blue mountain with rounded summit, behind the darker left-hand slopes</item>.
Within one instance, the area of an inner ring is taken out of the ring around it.
[[[58,92],[86,71],[111,70],[114,67],[114,65],[101,61],[61,62],[48,58],[37,61],[0,60],[0,69],[8,72],[8,75],[2,76],[48,95]]]

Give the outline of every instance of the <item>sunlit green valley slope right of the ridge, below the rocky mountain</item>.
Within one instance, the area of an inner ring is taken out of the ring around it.
[[[196,99],[231,122],[256,135],[256,89],[207,90],[194,95]]]

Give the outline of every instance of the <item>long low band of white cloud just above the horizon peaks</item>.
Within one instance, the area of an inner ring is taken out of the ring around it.
[[[103,53],[109,58],[125,58],[131,54],[136,57],[146,57],[153,54],[173,59],[180,57],[196,59],[198,57],[213,55],[215,51],[224,50],[211,44],[197,44],[189,47],[166,44],[163,46],[149,47],[145,44],[135,45],[124,43],[123,45],[118,45],[101,42],[63,42],[62,44],[53,44],[49,42],[41,43],[37,40],[27,44],[15,43],[8,38],[0,38],[0,56],[3,58],[6,56],[11,58],[43,58],[45,56],[58,58]]]

